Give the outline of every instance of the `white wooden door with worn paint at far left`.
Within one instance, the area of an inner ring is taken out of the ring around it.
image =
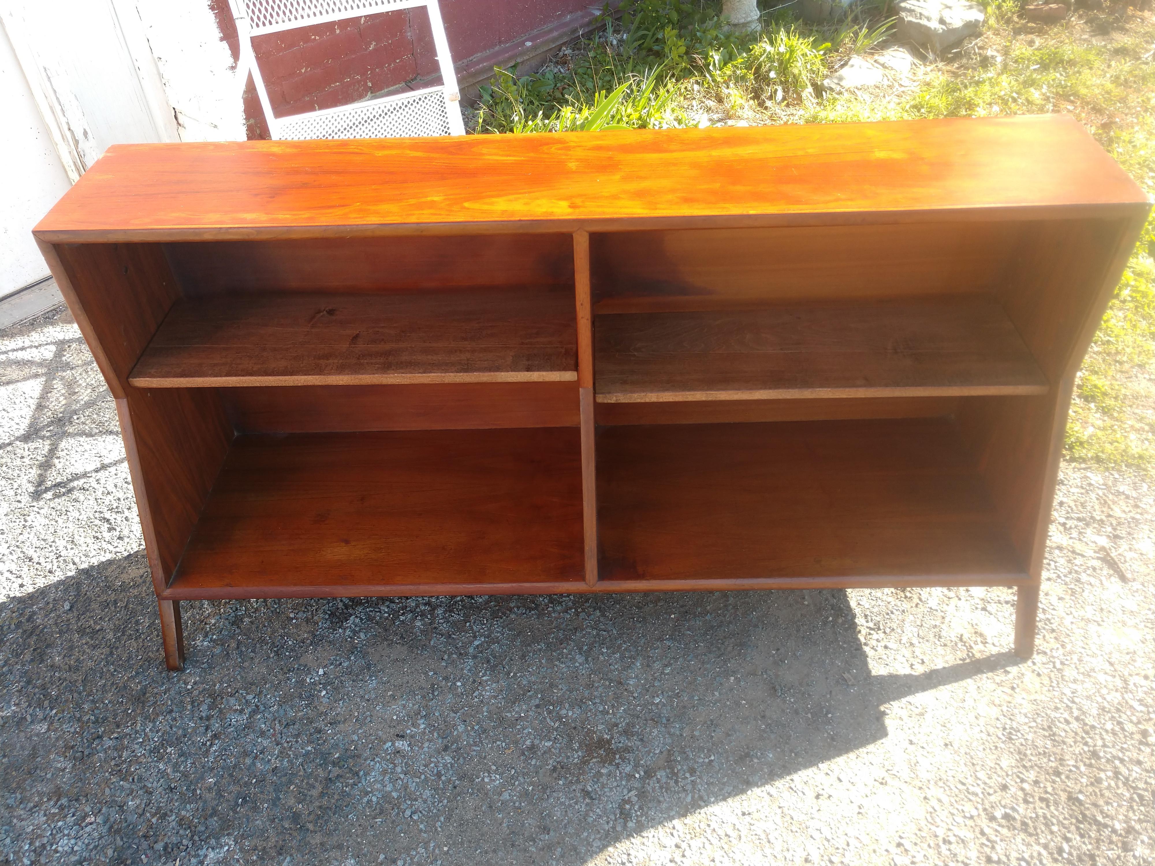
[[[178,136],[135,2],[0,0],[0,24],[3,297],[47,275],[29,232],[69,180],[110,144]]]

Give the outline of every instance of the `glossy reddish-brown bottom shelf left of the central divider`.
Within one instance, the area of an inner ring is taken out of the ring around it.
[[[166,598],[584,588],[572,427],[234,440]]]

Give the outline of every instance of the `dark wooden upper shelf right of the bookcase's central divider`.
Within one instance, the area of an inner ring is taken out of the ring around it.
[[[599,403],[1043,394],[985,294],[598,315]]]

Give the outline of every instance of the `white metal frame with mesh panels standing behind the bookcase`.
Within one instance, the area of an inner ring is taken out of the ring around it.
[[[403,135],[464,135],[461,94],[445,36],[438,0],[229,0],[240,37],[237,77],[244,90],[253,75],[256,96],[274,139],[366,139]],[[433,30],[441,85],[365,99],[335,109],[278,118],[253,52],[253,38],[266,33],[380,15],[424,6]]]

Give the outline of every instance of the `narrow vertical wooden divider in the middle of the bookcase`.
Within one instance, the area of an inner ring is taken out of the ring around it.
[[[594,322],[590,315],[589,232],[574,232],[578,303],[578,394],[581,409],[581,495],[586,532],[586,583],[597,583],[597,472],[594,448]]]

